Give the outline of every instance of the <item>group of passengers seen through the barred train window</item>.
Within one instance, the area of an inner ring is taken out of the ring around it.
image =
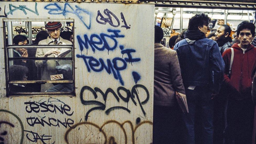
[[[37,33],[31,45],[73,45],[73,32],[60,31],[60,22],[48,22],[46,30]],[[61,36],[60,36],[61,35]],[[63,37],[63,38],[62,38]],[[28,45],[28,38],[16,35],[13,45]],[[13,57],[71,57],[67,48],[15,48]],[[72,80],[71,60],[13,60],[9,66],[10,81],[51,80],[52,75],[63,74],[61,80]],[[69,83],[19,83],[10,84],[10,92],[71,92]]]

